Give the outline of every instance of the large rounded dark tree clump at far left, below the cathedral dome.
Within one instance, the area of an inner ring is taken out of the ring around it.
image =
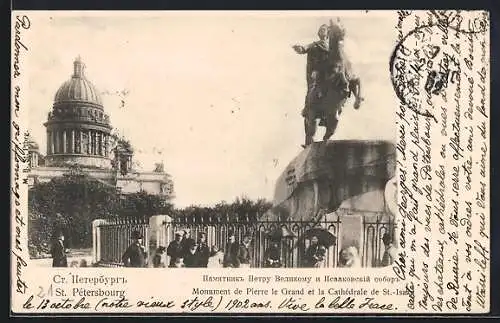
[[[70,247],[84,248],[92,244],[92,221],[116,216],[120,199],[109,184],[68,175],[33,186],[28,192],[28,208],[30,249],[48,244],[54,231],[62,231]]]

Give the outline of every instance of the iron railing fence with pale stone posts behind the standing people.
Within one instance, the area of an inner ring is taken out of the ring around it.
[[[381,238],[384,233],[391,235],[395,232],[395,224],[388,216],[366,215],[362,217],[362,229],[359,232],[359,255],[363,267],[376,267],[383,255],[384,246]],[[158,246],[167,247],[174,239],[174,233],[187,229],[192,238],[196,239],[200,232],[206,233],[207,244],[217,249],[225,249],[229,233],[235,234],[237,241],[242,241],[243,236],[252,236],[252,267],[263,267],[264,255],[270,247],[270,232],[281,230],[290,232],[291,236],[280,242],[281,262],[284,267],[302,267],[304,253],[310,245],[305,233],[316,227],[330,231],[337,239],[336,243],[327,249],[325,266],[337,267],[339,252],[342,246],[342,216],[321,221],[274,221],[257,220],[256,216],[238,217],[203,217],[203,218],[177,218],[168,216],[153,216],[146,218],[126,218],[113,220],[94,221],[94,262],[119,266],[121,257],[131,243],[132,232],[140,231],[143,234],[143,244],[150,255]],[[346,228],[349,230],[349,228]]]

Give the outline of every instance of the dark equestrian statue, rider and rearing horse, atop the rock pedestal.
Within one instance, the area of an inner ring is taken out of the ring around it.
[[[344,36],[340,21],[330,20],[329,26],[320,26],[319,40],[307,46],[293,46],[298,54],[307,54],[307,94],[302,110],[305,146],[313,143],[316,119],[320,119],[320,126],[326,127],[323,141],[327,141],[335,132],[342,107],[351,94],[355,109],[363,101],[360,80],[353,75],[351,63],[343,52]]]

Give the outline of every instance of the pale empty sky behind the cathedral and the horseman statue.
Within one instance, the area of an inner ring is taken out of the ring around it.
[[[394,140],[397,99],[389,57],[396,15],[386,12],[38,12],[31,21],[29,129],[45,153],[43,122],[80,55],[137,167],[163,161],[178,207],[273,197],[302,150],[306,57],[339,17],[365,101],[348,101],[333,139]],[[128,90],[121,107],[116,91]],[[324,130],[320,128],[317,140]]]

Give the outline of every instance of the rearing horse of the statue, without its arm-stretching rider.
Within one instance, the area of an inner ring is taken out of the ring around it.
[[[354,94],[354,108],[358,109],[363,98],[361,97],[361,82],[352,74],[349,60],[345,58],[341,42],[344,40],[345,30],[330,20],[328,28],[329,52],[327,71],[323,84],[312,86],[306,96],[304,115],[305,146],[313,143],[316,134],[316,119],[320,119],[320,126],[326,127],[323,141],[327,141],[337,129],[342,107],[351,93]]]

